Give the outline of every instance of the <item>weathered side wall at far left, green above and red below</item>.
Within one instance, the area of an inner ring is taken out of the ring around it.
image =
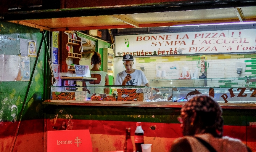
[[[21,26],[10,22],[0,22],[0,54],[19,55],[20,38],[35,40],[37,42],[36,51],[38,53],[40,42],[43,38],[39,29]],[[30,57],[31,74],[35,61],[36,58]],[[0,151],[5,152],[9,150],[11,146],[10,141],[13,139],[12,136],[14,136],[16,131],[17,120],[23,103],[25,102],[23,119],[19,128],[17,141],[14,144],[14,151],[23,151],[24,149],[33,149],[33,147],[37,147],[37,151],[43,152],[44,115],[42,101],[44,101],[44,90],[47,90],[45,86],[45,71],[47,71],[45,63],[45,45],[42,43],[42,48],[36,64],[34,77],[31,78],[32,82],[26,101],[24,101],[24,99],[29,81],[0,81],[0,145],[2,145]],[[29,123],[30,121],[33,121],[33,123]],[[25,134],[37,135],[33,140],[31,140],[29,139],[29,136],[25,137]],[[1,143],[3,142],[1,138],[10,138],[10,140],[6,140],[5,143]]]

